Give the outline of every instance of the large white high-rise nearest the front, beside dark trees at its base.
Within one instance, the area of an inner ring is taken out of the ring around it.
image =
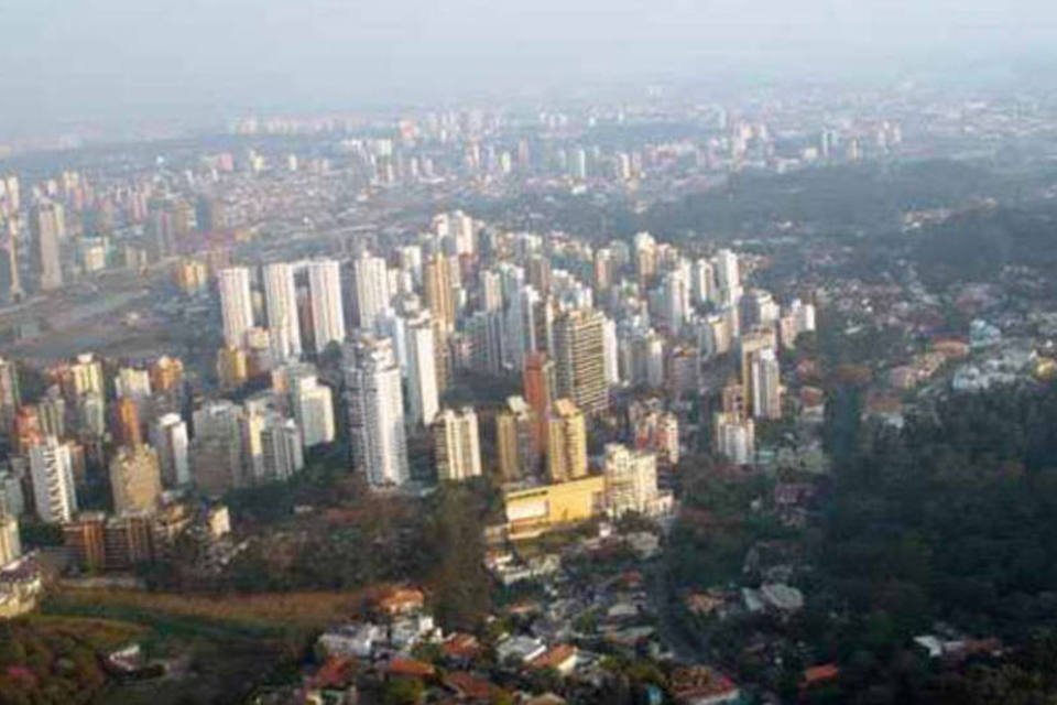
[[[345,345],[342,358],[352,467],[372,487],[403,485],[411,473],[392,340],[361,336]]]

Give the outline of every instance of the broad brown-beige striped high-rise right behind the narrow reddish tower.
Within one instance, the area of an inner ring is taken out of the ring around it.
[[[587,414],[609,409],[604,323],[600,312],[577,308],[558,316],[554,325],[557,395],[571,399]]]

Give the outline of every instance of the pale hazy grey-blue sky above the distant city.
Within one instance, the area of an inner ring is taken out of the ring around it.
[[[1055,0],[0,0],[0,130],[1031,56]]]

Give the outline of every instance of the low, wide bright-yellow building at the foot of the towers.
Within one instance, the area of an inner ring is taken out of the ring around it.
[[[586,521],[606,510],[606,478],[591,475],[569,482],[509,491],[503,497],[511,539],[532,539],[558,527]]]

